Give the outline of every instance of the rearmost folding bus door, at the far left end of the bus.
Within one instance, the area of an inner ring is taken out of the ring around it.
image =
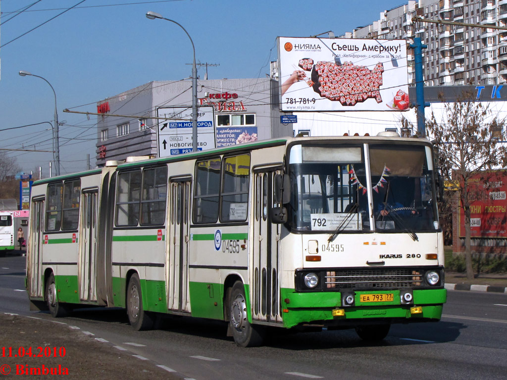
[[[44,244],[44,199],[33,201],[31,210],[30,237],[28,241],[28,293],[31,297],[42,297],[42,261]]]

